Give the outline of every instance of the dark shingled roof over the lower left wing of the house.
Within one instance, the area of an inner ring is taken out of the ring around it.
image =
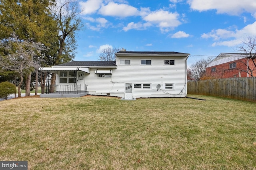
[[[116,61],[71,61],[55,66],[95,66],[95,67],[109,67],[116,66]]]

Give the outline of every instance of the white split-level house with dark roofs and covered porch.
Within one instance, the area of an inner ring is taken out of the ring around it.
[[[57,74],[54,91],[46,83],[46,93],[51,97],[54,93],[55,96],[59,93],[66,97],[64,93],[70,89],[74,94],[109,95],[123,99],[186,97],[189,55],[121,50],[116,53],[116,61],[71,61],[39,70]],[[47,97],[47,94],[41,97]]]

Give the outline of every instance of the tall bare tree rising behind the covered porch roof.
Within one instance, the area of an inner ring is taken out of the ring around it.
[[[76,0],[56,0],[56,4],[50,6],[50,11],[58,24],[59,49],[53,65],[71,61],[74,58],[72,52],[76,49],[75,32],[82,28],[82,19],[79,17],[80,6]],[[72,47],[73,49],[70,49]],[[71,52],[71,53],[70,53]],[[73,53],[74,54],[74,53]],[[51,84],[55,84],[56,74],[52,74]]]

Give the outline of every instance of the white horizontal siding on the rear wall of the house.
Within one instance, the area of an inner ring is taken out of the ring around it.
[[[137,97],[186,97],[186,57],[150,57],[150,67],[141,65],[141,60],[149,57],[131,57],[130,65],[120,65],[120,60],[129,56],[116,57],[118,66],[112,69],[112,75],[108,78],[99,78],[95,74],[96,69],[91,68],[90,74],[85,74],[85,84],[89,94],[124,97],[125,84],[132,84],[132,95]],[[163,65],[164,60],[175,60],[175,65]],[[170,95],[160,89],[172,91]],[[165,89],[166,84],[173,84],[174,89]],[[144,88],[145,87],[145,88]],[[183,91],[181,93],[181,91]]]

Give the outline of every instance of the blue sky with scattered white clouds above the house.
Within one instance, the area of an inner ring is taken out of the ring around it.
[[[236,52],[256,36],[256,0],[78,0],[84,28],[75,61],[97,61],[101,49],[190,53],[188,65]]]

